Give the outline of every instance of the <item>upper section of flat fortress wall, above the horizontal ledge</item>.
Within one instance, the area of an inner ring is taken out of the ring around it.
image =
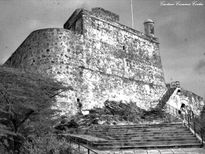
[[[108,61],[104,66],[107,71],[113,70],[112,73],[118,72],[120,76],[165,86],[158,43],[139,37],[117,23],[113,26],[111,22],[89,15],[84,15],[83,21],[83,35],[89,40],[86,43],[92,43],[96,60]],[[121,67],[110,64],[114,59],[118,61],[113,63]]]

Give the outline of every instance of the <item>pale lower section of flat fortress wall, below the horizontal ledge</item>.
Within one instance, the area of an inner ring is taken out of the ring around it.
[[[83,71],[83,79],[82,100],[90,107],[102,107],[106,100],[115,100],[135,102],[137,106],[149,109],[150,103],[164,93],[162,87],[149,87],[143,82],[89,69]]]

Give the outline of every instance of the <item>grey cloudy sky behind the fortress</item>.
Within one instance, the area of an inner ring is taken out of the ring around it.
[[[205,98],[205,1],[132,0],[134,29],[155,22],[167,83],[181,86]],[[0,0],[0,64],[34,30],[62,28],[77,8],[102,7],[120,15],[130,26],[131,0]],[[195,4],[195,5],[194,5]]]

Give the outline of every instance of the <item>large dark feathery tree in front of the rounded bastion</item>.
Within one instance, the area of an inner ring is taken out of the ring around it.
[[[32,134],[47,133],[58,112],[52,109],[61,83],[29,71],[0,66],[0,143],[18,154]]]

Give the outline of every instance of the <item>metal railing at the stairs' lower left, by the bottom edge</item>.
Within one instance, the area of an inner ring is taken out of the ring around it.
[[[69,154],[98,154],[96,151],[92,150],[85,144],[82,144],[78,141],[77,138],[73,138],[70,136],[64,136],[66,140],[68,140],[71,151]]]

